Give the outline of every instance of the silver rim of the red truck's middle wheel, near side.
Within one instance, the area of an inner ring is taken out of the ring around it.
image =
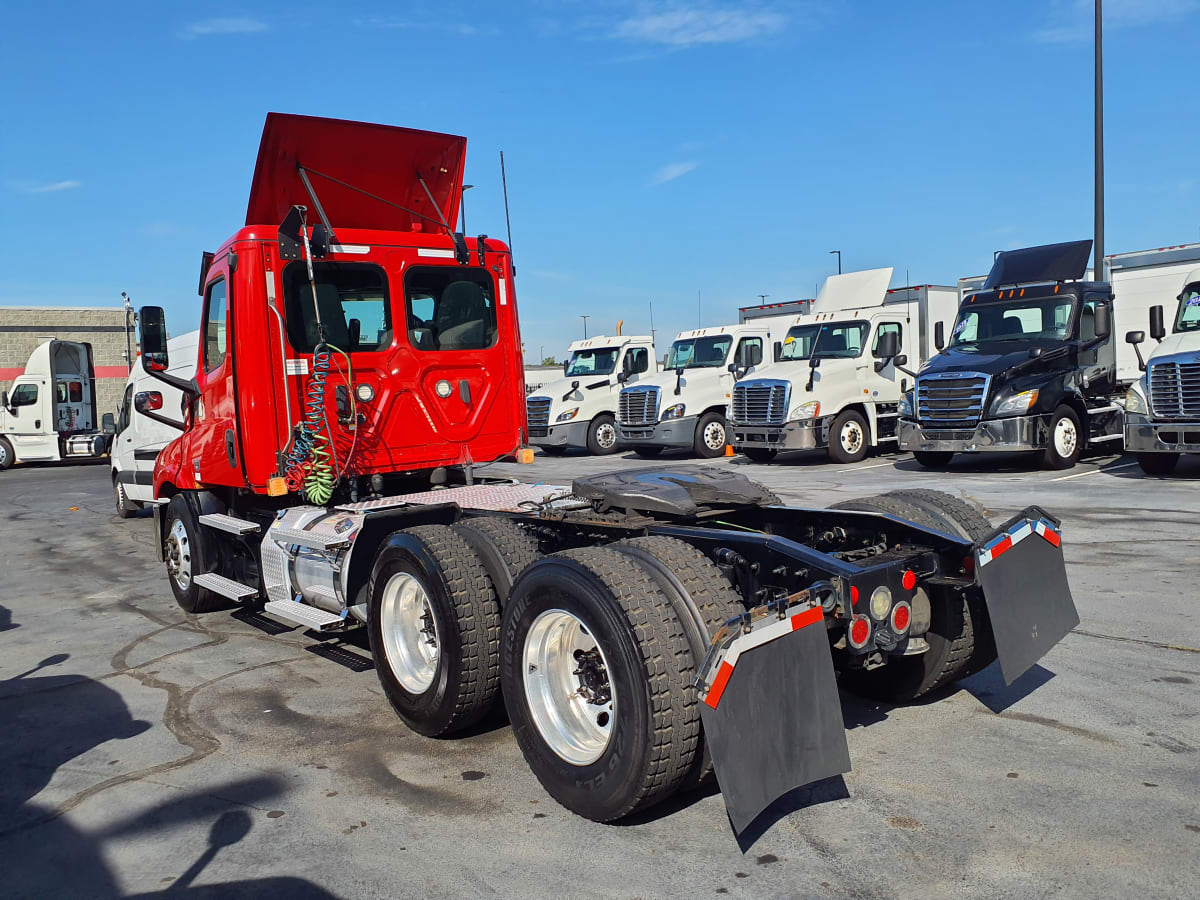
[[[438,671],[438,623],[430,595],[408,572],[392,575],[379,607],[383,648],[392,673],[409,694],[424,694]]]

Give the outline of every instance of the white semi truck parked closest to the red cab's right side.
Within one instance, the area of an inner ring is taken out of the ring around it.
[[[617,397],[623,386],[659,371],[654,340],[622,335],[618,328],[613,336],[576,341],[566,352],[563,378],[526,400],[529,443],[554,456],[572,449],[616,452]]]

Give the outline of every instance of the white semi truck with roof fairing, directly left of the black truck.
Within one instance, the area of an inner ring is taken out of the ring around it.
[[[833,275],[792,319],[774,364],[733,389],[733,448],[766,462],[780,450],[826,448],[857,462],[894,445],[901,395],[936,353],[934,332],[954,320],[958,290],[938,284],[888,289],[892,269]]]

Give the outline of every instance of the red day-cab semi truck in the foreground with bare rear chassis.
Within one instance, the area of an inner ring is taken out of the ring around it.
[[[155,469],[184,610],[365,625],[412,728],[503,701],[568,809],[612,821],[715,769],[738,830],[848,770],[835,672],[906,701],[997,656],[1012,680],[1074,626],[1037,508],[788,508],[701,467],[479,481],[528,450],[511,256],[455,230],[464,146],[269,115],[246,226],[204,257],[194,380],[142,310],[143,366],[185,392]]]

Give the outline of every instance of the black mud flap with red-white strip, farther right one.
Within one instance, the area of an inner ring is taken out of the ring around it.
[[[976,548],[976,572],[1012,684],[1079,624],[1057,520],[1037,506],[1014,516]]]

